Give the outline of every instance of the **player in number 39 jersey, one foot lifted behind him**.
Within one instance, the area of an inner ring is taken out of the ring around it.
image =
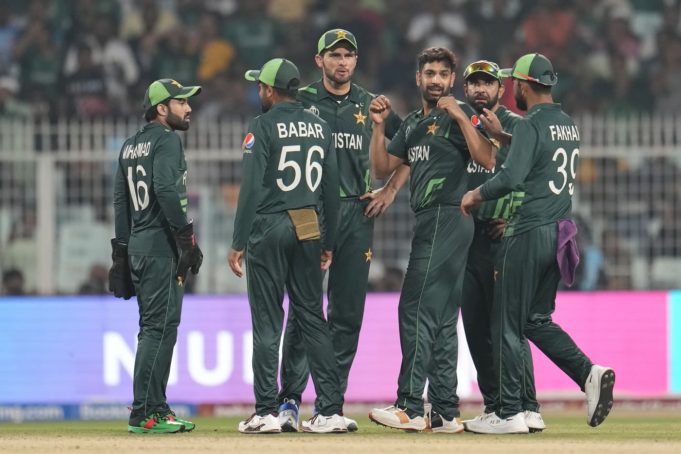
[[[586,393],[587,423],[597,426],[612,408],[615,374],[595,365],[575,345],[551,314],[561,277],[567,285],[579,262],[570,219],[572,194],[580,155],[580,132],[572,119],[554,104],[551,87],[558,81],[543,55],[520,57],[502,70],[513,78],[513,94],[527,115],[513,129],[501,132],[498,118],[486,110],[482,121],[497,140],[508,142],[507,159],[494,178],[466,193],[461,212],[484,200],[496,200],[523,185],[513,195],[515,210],[503,233],[495,262],[494,303],[491,312],[492,358],[498,380],[496,411],[466,421],[466,430],[479,434],[528,432],[522,382],[525,338],[535,344]]]

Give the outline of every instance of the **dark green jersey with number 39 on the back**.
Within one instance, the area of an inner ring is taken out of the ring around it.
[[[493,200],[524,183],[504,237],[570,217],[579,155],[580,132],[560,104],[537,104],[516,123],[506,162],[480,189]]]

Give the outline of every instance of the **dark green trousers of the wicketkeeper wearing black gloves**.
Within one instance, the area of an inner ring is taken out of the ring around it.
[[[184,286],[175,277],[171,257],[129,256],[130,271],[140,309],[140,333],[133,373],[130,417],[168,414],[165,388],[177,341]]]

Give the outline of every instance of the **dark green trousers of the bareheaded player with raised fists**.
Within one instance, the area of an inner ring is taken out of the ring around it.
[[[396,406],[424,414],[428,402],[447,419],[459,417],[456,323],[473,219],[455,205],[416,213],[398,320],[402,364]]]

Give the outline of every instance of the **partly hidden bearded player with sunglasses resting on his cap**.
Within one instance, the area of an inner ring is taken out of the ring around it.
[[[484,115],[485,109],[494,112],[503,130],[512,134],[513,126],[522,117],[499,104],[499,98],[504,94],[500,71],[498,65],[492,61],[481,60],[471,63],[464,71],[464,93],[466,93],[469,104],[477,111],[478,115]],[[477,124],[482,126],[482,123]],[[490,171],[470,160],[468,166],[469,190],[475,189],[492,178],[494,171],[501,168],[506,159],[507,145],[498,142],[496,139],[493,139],[492,142],[497,147],[496,165]],[[516,192],[506,194],[498,200],[483,202],[479,208],[471,211],[473,220],[475,220],[475,232],[466,261],[461,317],[466,330],[466,341],[471,351],[475,369],[477,369],[477,384],[485,404],[484,412],[479,414],[477,418],[484,417],[485,414],[493,413],[496,410],[494,408],[494,396],[498,388],[498,381],[494,377],[492,367],[492,338],[490,336],[490,310],[494,297],[494,256],[507,219],[513,209],[512,196],[516,195],[518,198],[522,198],[520,189],[522,188],[516,188]],[[527,339],[525,339],[524,347],[525,365],[522,401],[525,410],[525,422],[530,431],[540,432],[546,428],[546,425],[538,412],[539,404],[535,391],[532,352]]]

